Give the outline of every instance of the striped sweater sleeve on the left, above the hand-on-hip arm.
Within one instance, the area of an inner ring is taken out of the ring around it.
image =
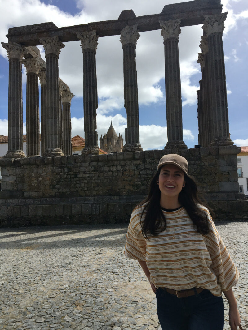
[[[142,235],[140,218],[141,214],[134,210],[126,234],[124,254],[128,258],[145,261],[146,242]]]

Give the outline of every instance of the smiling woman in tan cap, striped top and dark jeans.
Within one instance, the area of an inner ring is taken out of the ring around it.
[[[131,215],[125,255],[139,261],[156,293],[163,330],[223,330],[222,292],[230,329],[242,329],[231,289],[239,272],[184,157],[160,159],[148,197]]]

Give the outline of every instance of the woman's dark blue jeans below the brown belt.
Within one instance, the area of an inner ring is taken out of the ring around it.
[[[223,330],[223,299],[209,290],[178,298],[158,288],[156,298],[162,330]]]

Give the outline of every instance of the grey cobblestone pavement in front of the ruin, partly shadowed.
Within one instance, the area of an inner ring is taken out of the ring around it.
[[[241,274],[234,292],[245,330],[248,222],[217,226]],[[0,329],[161,329],[141,267],[123,255],[126,231],[127,224],[0,229]],[[225,317],[230,329],[226,300]]]

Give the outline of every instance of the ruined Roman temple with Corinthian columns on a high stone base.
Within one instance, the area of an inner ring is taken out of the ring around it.
[[[220,0],[195,0],[166,5],[155,15],[136,17],[132,10],[124,10],[118,19],[109,21],[62,28],[52,22],[10,28],[8,43],[2,43],[9,57],[9,151],[0,161],[0,224],[127,222],[132,208],[145,197],[160,157],[175,152],[187,158],[189,174],[205,191],[217,219],[247,219],[248,201],[238,193],[236,155],[240,148],[233,146],[229,137],[222,43],[226,17]],[[202,71],[197,91],[199,145],[187,149],[183,141],[178,43],[180,27],[196,24],[203,29],[198,56]],[[150,30],[159,30],[164,39],[168,142],[164,150],[143,151],[139,137],[136,44],[139,32]],[[99,155],[96,50],[98,40],[111,35],[120,35],[123,48],[126,144],[123,152]],[[85,132],[85,148],[78,156],[71,155],[69,147],[65,147],[73,95],[69,89],[63,90],[66,101],[62,101],[61,111],[58,74],[63,42],[76,40],[83,50]],[[45,70],[39,72],[35,55],[38,45],[44,46],[46,55]],[[27,144],[28,150],[33,151],[28,151],[27,157],[22,151],[22,62],[27,68],[27,90],[30,86]],[[45,147],[43,156],[38,157],[36,99],[41,72],[46,77],[41,101]]]

